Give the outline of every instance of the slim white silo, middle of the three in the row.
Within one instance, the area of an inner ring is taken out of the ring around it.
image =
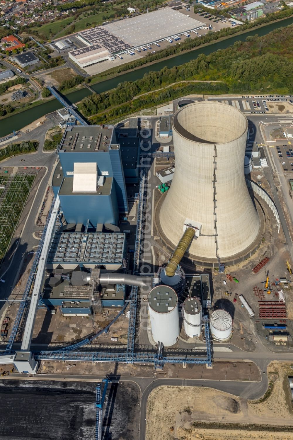
[[[183,303],[182,317],[184,330],[189,337],[201,334],[201,304],[196,298],[186,298]]]

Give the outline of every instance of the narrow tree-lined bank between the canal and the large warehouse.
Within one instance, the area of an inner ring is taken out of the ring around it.
[[[99,73],[97,77],[105,77],[108,75],[113,75],[114,73],[121,73],[127,70],[135,69],[136,67],[143,66],[144,64],[148,64],[151,62],[158,61],[163,58],[168,58],[176,53],[180,53],[183,51],[188,51],[194,48],[197,48],[203,44],[210,43],[212,41],[219,40],[220,38],[225,38],[232,36],[236,33],[243,33],[244,30],[253,29],[259,26],[264,26],[265,24],[275,22],[278,20],[282,20],[284,18],[288,18],[293,16],[293,8],[283,9],[282,11],[274,12],[272,14],[267,14],[264,17],[260,17],[253,22],[245,22],[241,27],[233,27],[233,28],[223,28],[218,32],[208,32],[206,35],[203,35],[201,38],[187,38],[186,40],[172,44],[170,47],[166,49],[162,49],[161,51],[156,51],[153,53],[148,53],[143,58],[139,58],[135,61],[128,62],[126,64],[122,64],[121,66],[114,67],[112,69],[106,70],[106,72]],[[92,77],[92,84],[95,82],[95,77]]]

